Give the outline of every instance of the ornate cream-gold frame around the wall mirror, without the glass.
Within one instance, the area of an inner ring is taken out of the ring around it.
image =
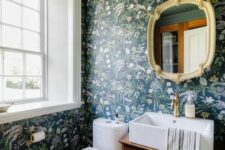
[[[203,10],[207,19],[207,31],[208,31],[208,45],[207,54],[204,62],[199,65],[198,69],[189,73],[169,73],[161,70],[161,67],[156,64],[154,55],[154,29],[156,21],[160,18],[160,14],[168,8],[180,4],[195,4],[199,9]],[[150,14],[147,32],[148,43],[148,60],[151,68],[155,71],[156,75],[164,79],[168,79],[179,84],[182,81],[202,76],[204,70],[213,62],[215,55],[215,43],[216,43],[216,21],[213,6],[210,0],[168,0],[167,2],[157,6],[153,14]]]

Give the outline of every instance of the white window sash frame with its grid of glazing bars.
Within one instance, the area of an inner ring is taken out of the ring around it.
[[[23,30],[26,30],[26,31],[31,31],[31,32],[34,32],[34,33],[38,33],[40,34],[40,52],[36,52],[36,51],[31,51],[31,50],[26,50],[26,49],[18,49],[18,48],[11,48],[11,47],[5,47],[5,46],[0,46],[0,49],[4,52],[13,52],[13,53],[18,53],[18,54],[22,54],[23,56],[23,75],[5,75],[3,73],[3,75],[0,75],[0,77],[21,77],[22,78],[22,81],[24,82],[23,83],[23,97],[24,97],[24,91],[25,91],[25,79],[26,77],[40,77],[42,79],[41,81],[41,97],[36,97],[36,98],[23,98],[23,99],[13,99],[11,101],[7,100],[7,102],[13,102],[13,103],[16,103],[16,104],[19,104],[19,103],[27,103],[27,102],[35,102],[35,101],[40,101],[40,100],[45,100],[46,99],[46,89],[47,89],[47,84],[46,84],[46,76],[47,76],[47,71],[46,71],[46,55],[47,55],[47,2],[46,0],[41,0],[40,1],[40,10],[36,10],[36,9],[33,9],[29,6],[25,6],[23,4],[20,4],[20,3],[17,3],[13,0],[7,0],[9,1],[10,3],[14,3],[16,5],[19,5],[23,8],[28,8],[28,9],[31,9],[33,11],[36,11],[36,12],[39,12],[40,13],[40,32],[37,32],[37,31],[34,31],[34,30],[31,30],[31,29],[27,29],[27,28],[23,28],[23,27],[18,27],[18,26],[14,26],[14,25],[11,25],[11,24],[7,24],[7,23],[3,23],[3,22],[0,22],[1,25],[6,25],[6,26],[9,26],[9,27],[14,27],[14,28],[17,28],[17,29],[20,29],[21,31]],[[1,1],[2,2],[2,1]],[[23,9],[22,8],[22,9]],[[23,13],[22,13],[23,14]],[[1,17],[1,16],[0,16]],[[23,15],[22,15],[22,18],[23,18]],[[23,33],[22,33],[23,34]],[[2,35],[1,35],[2,37]],[[2,38],[0,38],[1,41],[2,41]],[[22,40],[21,39],[21,43],[22,43]],[[42,63],[42,73],[40,76],[33,76],[33,75],[26,75],[26,54],[32,54],[32,55],[39,55],[41,57],[41,63]],[[2,65],[3,65],[3,70],[4,70],[4,55],[2,55]],[[3,81],[4,82],[4,81]],[[2,89],[2,93],[3,95],[5,94],[4,93],[4,88]],[[0,100],[0,102],[5,102],[5,100]]]

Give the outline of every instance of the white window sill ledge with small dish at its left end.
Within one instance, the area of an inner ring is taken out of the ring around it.
[[[13,105],[7,112],[0,113],[0,124],[76,109],[81,104],[82,102],[42,101]]]

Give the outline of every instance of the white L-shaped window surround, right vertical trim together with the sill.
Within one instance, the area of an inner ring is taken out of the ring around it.
[[[81,102],[81,0],[68,0],[68,99],[13,105],[0,113],[0,124],[79,108]],[[46,69],[46,68],[45,68]]]

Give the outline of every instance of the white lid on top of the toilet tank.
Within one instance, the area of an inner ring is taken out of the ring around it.
[[[128,123],[115,123],[115,121],[105,118],[98,118],[94,120],[94,125],[104,126],[109,128],[126,128],[128,127]]]

